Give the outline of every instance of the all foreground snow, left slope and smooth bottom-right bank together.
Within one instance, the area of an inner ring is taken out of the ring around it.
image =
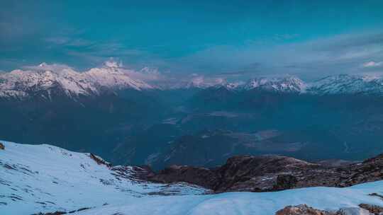
[[[0,214],[70,211],[74,214],[274,214],[287,205],[308,204],[317,209],[383,206],[383,181],[347,188],[311,187],[281,192],[202,194],[189,185],[157,185],[111,175],[86,153],[49,145],[4,142],[0,150]],[[164,194],[181,195],[157,195]],[[183,195],[182,195],[183,194]],[[105,204],[107,203],[107,204]],[[105,205],[104,205],[105,204]]]

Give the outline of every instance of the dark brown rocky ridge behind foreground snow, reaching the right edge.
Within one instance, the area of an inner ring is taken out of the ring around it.
[[[155,182],[188,182],[214,192],[270,192],[299,187],[348,187],[383,179],[383,154],[331,167],[285,156],[235,156],[218,168],[172,165],[147,177]]]

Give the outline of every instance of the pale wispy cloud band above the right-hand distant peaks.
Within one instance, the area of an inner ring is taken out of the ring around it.
[[[211,66],[211,73],[216,70],[220,74],[228,75],[231,70],[238,69],[243,76],[296,74],[309,77],[357,74],[364,72],[360,64],[372,59],[376,59],[376,62],[383,60],[381,37],[382,33],[370,32],[262,48],[256,45],[217,46],[184,57],[182,64],[206,64]]]

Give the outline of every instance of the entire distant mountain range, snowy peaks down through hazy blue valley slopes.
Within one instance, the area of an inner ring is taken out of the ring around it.
[[[212,167],[238,154],[318,161],[383,151],[383,79],[377,77],[192,79],[161,86],[116,64],[82,73],[35,67],[0,75],[0,139],[155,169]]]

